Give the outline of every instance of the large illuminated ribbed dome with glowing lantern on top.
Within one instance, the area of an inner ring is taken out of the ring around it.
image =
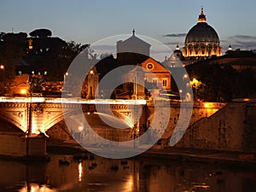
[[[219,46],[218,33],[207,24],[207,17],[201,9],[198,23],[193,26],[185,39],[183,56],[212,56],[222,55],[222,48]]]

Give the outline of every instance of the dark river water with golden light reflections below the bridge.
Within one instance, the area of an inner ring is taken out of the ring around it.
[[[239,166],[150,160],[108,160],[50,154],[46,164],[0,160],[0,191],[252,192],[256,172]]]

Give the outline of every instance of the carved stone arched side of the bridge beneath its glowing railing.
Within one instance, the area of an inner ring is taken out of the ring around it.
[[[128,103],[128,102],[127,102]],[[21,131],[27,132],[28,127],[32,127],[32,133],[38,134],[39,132],[48,131],[52,126],[58,124],[65,117],[73,116],[80,113],[80,106],[82,105],[84,113],[96,112],[96,105],[91,103],[78,103],[78,102],[1,102],[0,115],[1,118],[9,123],[18,127]],[[128,128],[134,125],[134,104],[97,104],[97,109],[102,109],[104,113],[106,108],[109,108],[119,120],[123,120]],[[140,105],[138,105],[140,106]],[[140,106],[141,107],[141,106]],[[107,111],[106,111],[107,113]],[[110,118],[110,117],[109,117]],[[32,124],[31,126],[29,126]]]

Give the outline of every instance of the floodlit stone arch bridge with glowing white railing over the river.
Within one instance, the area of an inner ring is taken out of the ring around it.
[[[134,109],[146,105],[144,100],[81,100],[49,97],[1,97],[0,118],[15,125],[26,133],[38,134],[48,131],[59,123],[64,116],[79,113],[95,112],[100,109],[103,113],[111,108],[112,113],[119,119],[124,119],[132,126],[135,119]]]

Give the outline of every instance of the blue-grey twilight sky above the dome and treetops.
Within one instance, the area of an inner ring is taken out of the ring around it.
[[[137,34],[174,49],[204,7],[224,51],[256,49],[255,0],[1,0],[0,32],[48,28],[54,37],[92,44],[108,36]]]

